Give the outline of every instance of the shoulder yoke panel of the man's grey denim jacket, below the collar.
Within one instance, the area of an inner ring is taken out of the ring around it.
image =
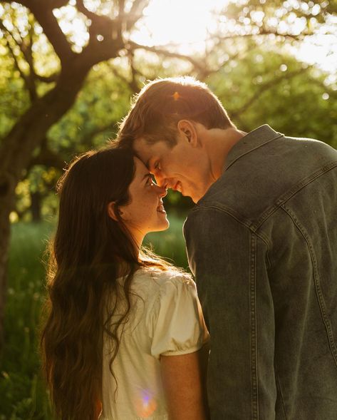
[[[249,137],[242,138],[242,144],[234,146],[234,157],[229,156],[230,165],[225,165],[195,212],[203,209],[206,215],[207,208],[217,209],[253,224],[304,180],[337,164],[337,150],[326,143],[276,134],[272,137],[269,133],[264,143],[255,139],[253,145],[249,145]]]

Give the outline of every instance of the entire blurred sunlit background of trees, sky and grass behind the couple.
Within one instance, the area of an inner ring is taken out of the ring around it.
[[[180,75],[240,130],[337,148],[337,1],[0,1],[0,420],[52,419],[38,324],[63,168],[115,138],[146,81]],[[186,269],[192,206],[170,192],[170,229],[146,240]]]

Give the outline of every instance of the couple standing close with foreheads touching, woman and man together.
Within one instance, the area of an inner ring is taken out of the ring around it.
[[[61,419],[337,419],[336,150],[244,133],[169,78],[59,188],[41,343]],[[141,246],[168,227],[167,188],[196,203],[197,292]]]

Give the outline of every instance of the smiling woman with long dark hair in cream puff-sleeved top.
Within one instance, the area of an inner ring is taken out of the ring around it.
[[[58,190],[41,336],[56,414],[206,419],[195,285],[141,247],[169,226],[165,189],[130,151],[107,148],[76,158]]]

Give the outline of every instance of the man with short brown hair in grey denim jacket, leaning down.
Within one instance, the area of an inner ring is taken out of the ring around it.
[[[336,420],[337,151],[243,133],[192,78],[147,84],[119,139],[197,204],[184,234],[211,419]]]

